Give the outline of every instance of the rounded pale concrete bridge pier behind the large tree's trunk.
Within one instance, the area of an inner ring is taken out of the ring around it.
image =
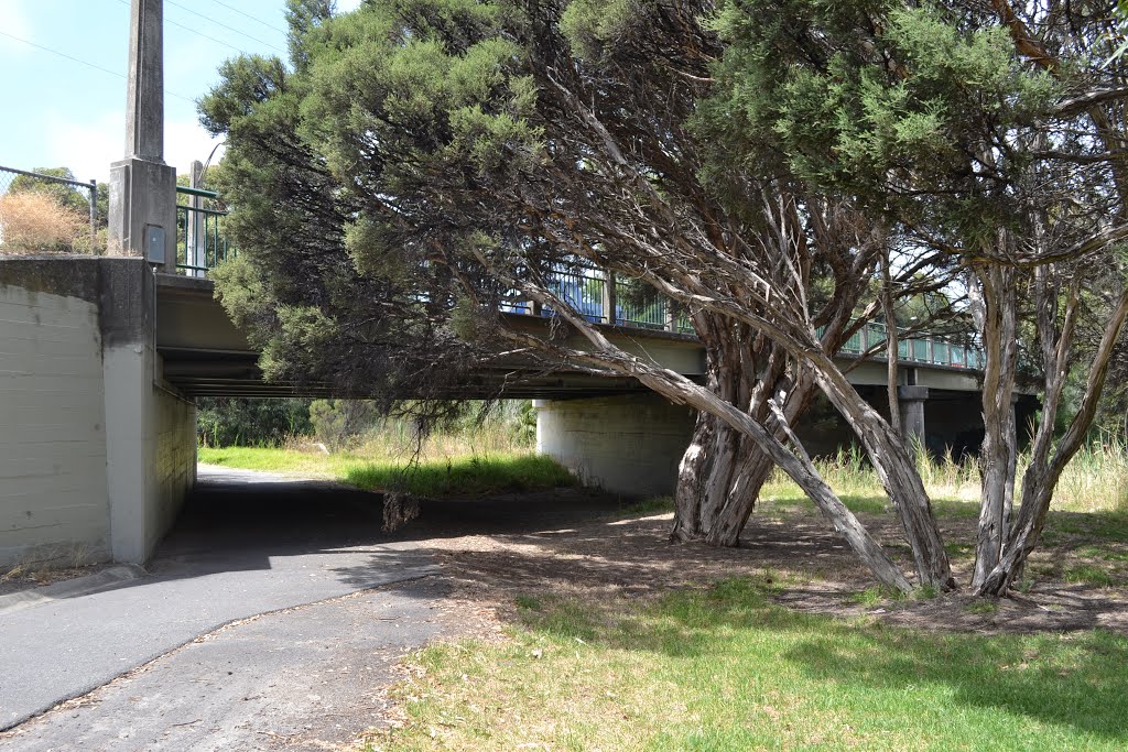
[[[536,400],[537,451],[625,495],[669,495],[696,414],[656,395]]]

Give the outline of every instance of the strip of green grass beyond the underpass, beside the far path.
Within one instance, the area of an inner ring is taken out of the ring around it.
[[[358,454],[285,449],[200,449],[200,461],[248,470],[332,477],[367,490],[405,490],[416,496],[482,496],[571,486],[575,478],[555,460],[531,453],[422,460],[369,459]]]

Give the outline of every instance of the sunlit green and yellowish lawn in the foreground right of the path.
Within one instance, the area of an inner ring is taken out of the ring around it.
[[[373,750],[1123,750],[1128,639],[937,635],[721,582],[647,605],[518,599],[502,645],[425,648]]]

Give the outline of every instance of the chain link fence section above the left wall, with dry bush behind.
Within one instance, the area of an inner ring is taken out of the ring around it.
[[[106,186],[70,170],[0,166],[0,256],[104,254],[107,203]]]

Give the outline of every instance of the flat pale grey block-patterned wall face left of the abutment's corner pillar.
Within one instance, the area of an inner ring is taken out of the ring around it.
[[[105,474],[97,303],[0,267],[0,564],[107,558]]]

